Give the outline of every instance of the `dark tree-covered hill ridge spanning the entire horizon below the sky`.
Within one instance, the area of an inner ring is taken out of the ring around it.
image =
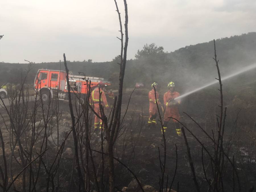
[[[159,45],[161,46],[161,45]],[[222,74],[228,71],[255,63],[256,61],[256,32],[250,32],[230,38],[216,40],[217,56],[220,60]],[[128,50],[129,51],[129,50]],[[213,41],[185,46],[176,51],[157,52],[141,56],[139,59],[127,61],[125,86],[134,86],[135,82],[151,84],[158,81],[166,84],[174,80],[179,84],[189,86],[189,83],[200,84],[202,78],[214,79],[216,70],[212,57],[214,56]],[[112,81],[116,78],[119,65],[117,59],[108,62],[68,61],[68,67],[73,73],[84,72],[88,76],[104,77]],[[20,81],[20,71],[25,73],[27,63],[1,63],[0,82]],[[35,63],[28,81],[34,80],[38,69],[59,69],[59,62]],[[61,69],[64,64],[61,62]],[[207,79],[206,79],[207,80]],[[205,79],[204,79],[205,81]]]

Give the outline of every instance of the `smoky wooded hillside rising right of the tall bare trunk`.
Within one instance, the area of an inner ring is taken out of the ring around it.
[[[255,63],[256,33],[217,39],[216,49],[221,75],[230,74]],[[155,53],[134,60],[132,73],[142,68],[143,75],[137,75],[140,81],[157,80],[166,84],[172,80],[186,89],[195,84],[198,87],[215,80],[217,73],[213,56],[213,41],[190,45],[171,53]]]

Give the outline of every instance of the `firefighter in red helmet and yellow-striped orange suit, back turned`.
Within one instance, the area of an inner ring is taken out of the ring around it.
[[[100,92],[102,92],[101,98],[99,98],[99,96],[100,96],[99,88],[100,88]],[[107,108],[107,110],[109,109],[106,94],[104,92],[104,88],[105,88],[105,84],[101,81],[101,82],[99,82],[98,86],[96,88],[94,88],[94,90],[92,91],[92,94],[91,94],[91,103],[94,106],[93,109],[99,116],[101,116],[100,115],[100,104],[101,105],[104,104],[105,107]],[[98,127],[99,128],[102,127],[102,120],[99,117],[97,117],[97,115],[95,115],[94,128],[96,129]]]

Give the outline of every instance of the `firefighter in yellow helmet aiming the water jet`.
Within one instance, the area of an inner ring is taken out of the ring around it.
[[[179,110],[178,110],[178,105],[180,104],[180,100],[174,100],[174,98],[179,96],[179,93],[174,91],[175,90],[175,83],[170,82],[168,83],[168,88],[169,90],[164,94],[164,105],[166,107],[165,113],[164,113],[164,132],[167,129],[167,124],[170,118],[168,117],[173,117],[179,121],[180,115],[179,115]],[[176,121],[175,119],[172,119],[173,122],[175,123],[176,126],[176,132],[178,136],[181,136],[181,129],[179,122]]]

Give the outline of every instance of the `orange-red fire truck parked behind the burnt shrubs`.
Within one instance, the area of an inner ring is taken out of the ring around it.
[[[84,102],[84,94],[87,92],[87,79],[91,81],[92,89],[94,89],[100,81],[102,81],[105,86],[111,85],[110,82],[104,80],[104,78],[85,77],[81,75],[73,75],[72,73],[69,73],[68,76],[71,97],[76,99],[75,94],[77,94],[80,98],[80,100],[77,99],[79,104],[80,102]],[[65,71],[39,69],[34,80],[34,88],[35,91],[40,91],[44,102],[47,102],[50,98],[53,100],[68,100],[68,87]]]

